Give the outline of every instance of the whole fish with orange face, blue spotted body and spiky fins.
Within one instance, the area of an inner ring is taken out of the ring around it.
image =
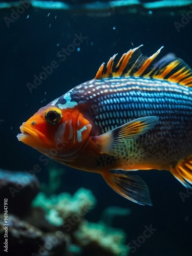
[[[142,46],[142,45],[141,45]],[[192,184],[192,70],[173,53],[117,54],[20,126],[19,141],[55,161],[100,174],[119,195],[152,205],[136,170],[168,170]]]

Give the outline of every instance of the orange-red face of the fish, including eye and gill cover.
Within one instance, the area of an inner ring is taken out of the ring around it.
[[[20,126],[22,134],[17,138],[55,160],[69,161],[87,145],[91,129],[90,122],[77,109],[60,110],[47,105]]]

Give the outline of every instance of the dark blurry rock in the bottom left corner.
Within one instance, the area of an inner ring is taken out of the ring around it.
[[[61,231],[44,233],[14,215],[8,216],[8,255],[65,256],[69,236]],[[5,241],[4,215],[0,215],[0,241]],[[0,255],[6,255],[3,246]]]

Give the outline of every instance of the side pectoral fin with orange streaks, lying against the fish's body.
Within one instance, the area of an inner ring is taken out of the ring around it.
[[[94,137],[100,153],[114,154],[119,144],[135,140],[139,135],[152,129],[159,121],[157,116],[145,116],[137,118],[131,122],[125,123],[112,131]]]

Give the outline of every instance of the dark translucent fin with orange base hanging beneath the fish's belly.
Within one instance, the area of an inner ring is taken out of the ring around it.
[[[108,185],[122,197],[141,205],[152,205],[146,183],[138,175],[101,173]]]

